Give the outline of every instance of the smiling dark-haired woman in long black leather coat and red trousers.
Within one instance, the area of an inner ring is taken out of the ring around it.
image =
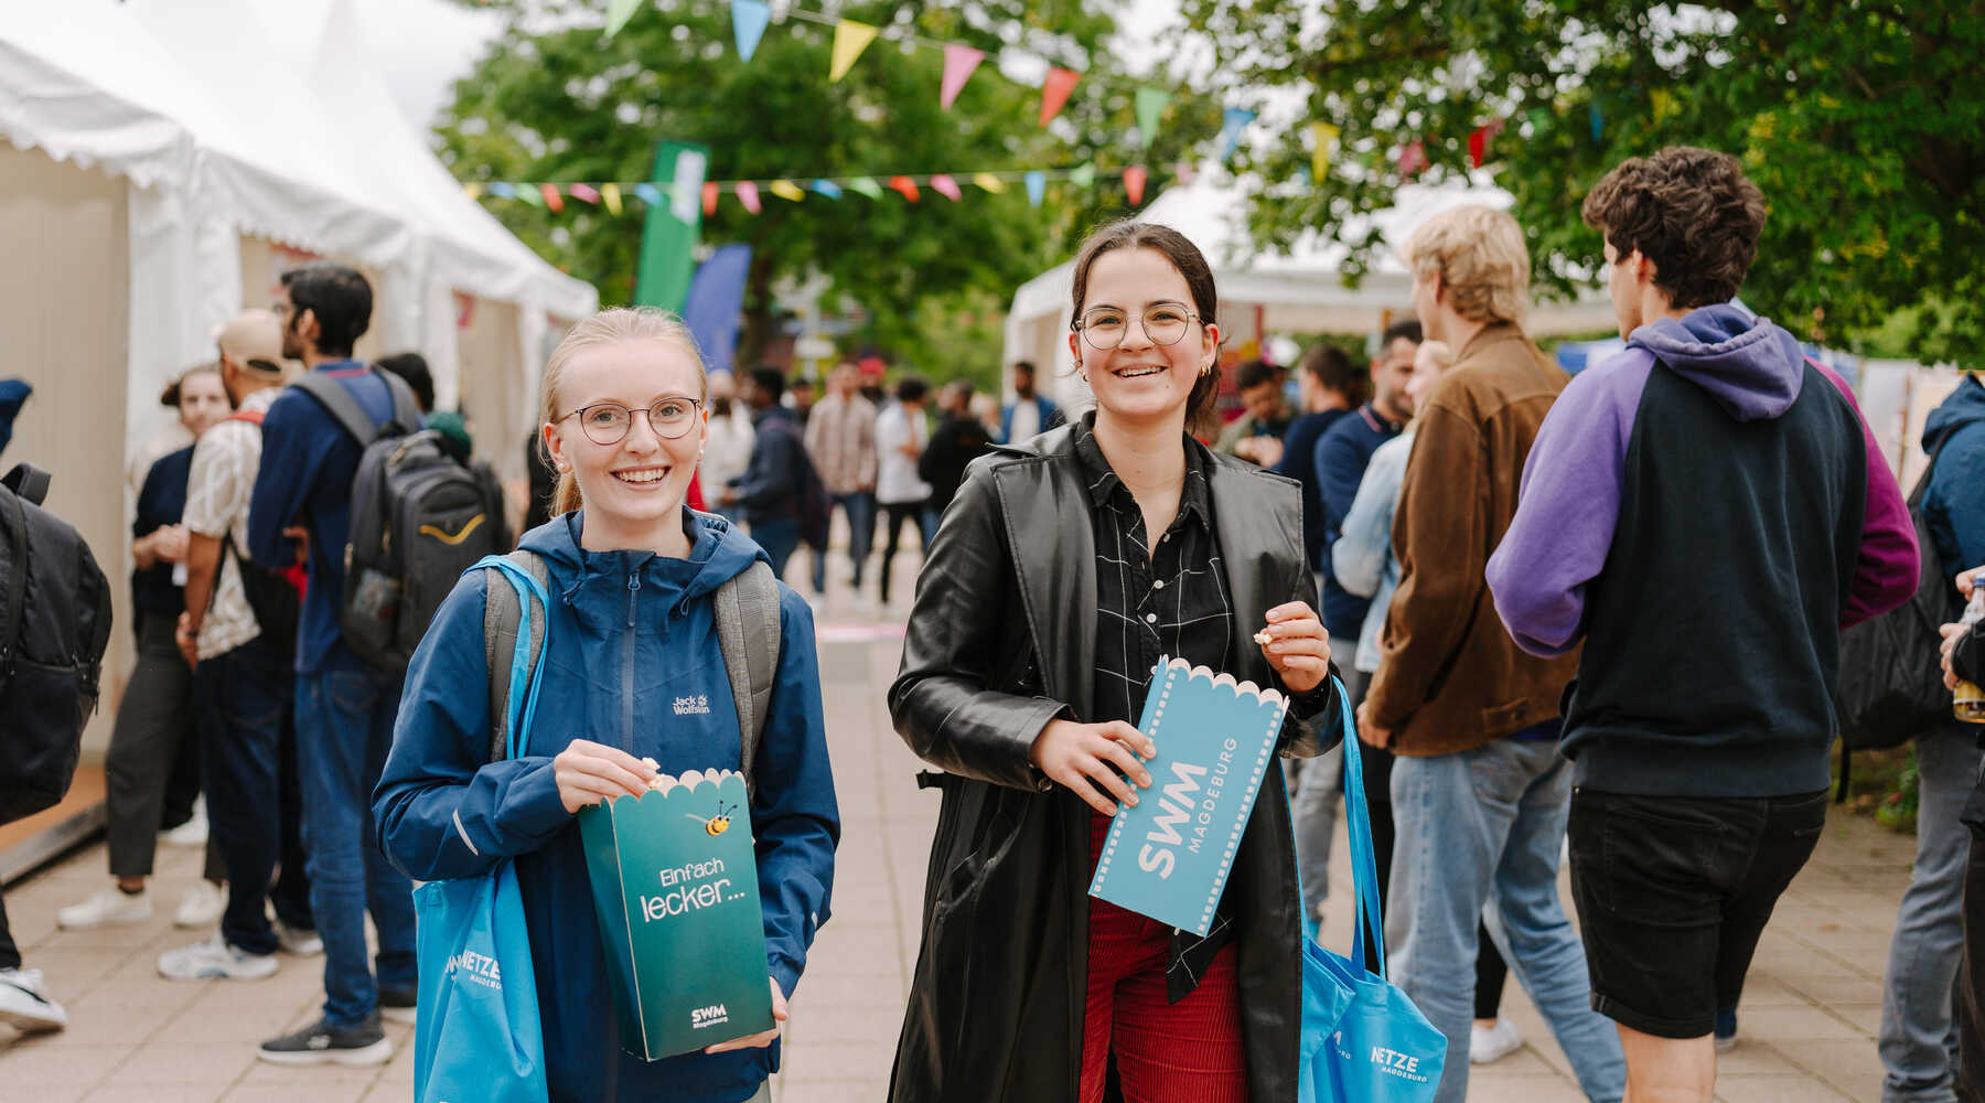
[[[1292,694],[1284,756],[1340,730],[1298,486],[1187,436],[1217,391],[1199,250],[1118,222],[1074,266],[1096,411],[973,464],[917,579],[895,728],[943,774],[891,1099],[1296,1097],[1302,905],[1270,770],[1213,930],[1088,899],[1161,655]],[[1243,996],[1245,994],[1245,996]]]

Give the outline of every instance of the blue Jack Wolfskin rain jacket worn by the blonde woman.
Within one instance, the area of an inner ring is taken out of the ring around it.
[[[584,552],[584,514],[524,536],[550,569],[552,617],[536,724],[524,754],[504,762],[486,762],[488,571],[466,573],[407,669],[393,752],[373,794],[379,843],[409,877],[474,877],[500,857],[516,859],[554,1101],[736,1103],[778,1067],[776,1043],[653,1063],[621,1051],[580,825],[552,778],[552,756],[576,738],[655,758],[663,774],[738,770],[736,706],[711,593],[764,553],[719,518],[685,518],[689,559]],[[792,996],[806,948],[828,920],[840,811],[812,611],[784,585],[778,597],[782,645],[750,819],[766,972]]]

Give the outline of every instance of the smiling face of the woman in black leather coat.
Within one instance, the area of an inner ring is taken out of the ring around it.
[[[1213,369],[1219,355],[1219,325],[1195,317],[1185,276],[1157,250],[1110,250],[1090,268],[1078,317],[1092,317],[1098,307],[1110,307],[1120,319],[1110,333],[1122,335],[1114,349],[1092,343],[1102,329],[1068,335],[1076,365],[1096,391],[1098,417],[1131,423],[1175,419],[1183,427],[1193,383],[1201,371]],[[1159,345],[1147,333],[1147,317],[1159,327],[1183,321],[1185,333],[1171,345]]]

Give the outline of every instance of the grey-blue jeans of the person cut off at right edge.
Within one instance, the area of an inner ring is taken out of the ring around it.
[[[1963,956],[1963,885],[1971,831],[1957,813],[1979,774],[1973,732],[1947,724],[1916,740],[1921,796],[1916,807],[1916,873],[1902,895],[1882,984],[1884,1103],[1949,1103],[1957,1073],[1951,1000]]]

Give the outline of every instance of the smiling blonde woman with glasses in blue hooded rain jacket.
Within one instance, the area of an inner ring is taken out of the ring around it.
[[[407,669],[375,792],[379,839],[413,879],[476,877],[516,859],[554,1101],[766,1099],[776,1067],[776,1030],[653,1063],[621,1049],[574,819],[643,794],[657,772],[744,770],[713,595],[764,552],[683,504],[709,432],[705,397],[697,345],[669,313],[607,309],[566,335],[544,371],[554,516],[520,544],[552,601],[536,722],[522,754],[490,762],[484,595],[508,583],[468,571]],[[772,1008],[784,1020],[828,919],[840,813],[812,613],[778,585],[776,617],[780,657],[748,778]]]

